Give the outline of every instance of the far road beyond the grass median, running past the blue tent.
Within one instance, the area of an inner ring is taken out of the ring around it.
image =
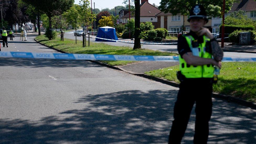
[[[76,39],[74,34],[65,34],[64,38],[67,39]],[[83,40],[82,36],[77,36],[77,40]],[[88,40],[88,38],[87,38]],[[90,38],[90,41],[97,42],[95,41],[94,38]],[[100,43],[100,42],[97,42]],[[109,45],[114,45],[114,46],[128,46],[128,47],[133,47],[134,44],[129,44],[129,43],[124,43],[124,42],[104,42],[105,44]],[[143,44],[141,46],[144,49],[151,49],[151,50],[159,50],[159,51],[164,51],[164,52],[175,52],[178,53],[177,51],[177,44],[173,45],[146,45]],[[251,54],[251,53],[241,53],[241,52],[224,52],[225,57],[256,57],[256,54]]]

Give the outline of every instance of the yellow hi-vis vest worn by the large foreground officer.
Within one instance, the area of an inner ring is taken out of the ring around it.
[[[183,35],[184,36],[184,35]],[[194,56],[202,58],[212,58],[212,54],[206,52],[206,42],[210,41],[209,38],[203,36],[203,43],[199,44],[198,47],[192,46],[192,41],[195,39],[190,36],[184,36],[188,45],[193,52]],[[179,55],[180,71],[186,78],[213,78],[214,67],[213,65],[202,65],[202,66],[191,66]]]

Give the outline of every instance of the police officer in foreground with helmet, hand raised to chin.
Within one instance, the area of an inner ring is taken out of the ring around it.
[[[191,31],[178,39],[180,80],[169,143],[180,143],[196,103],[194,143],[207,143],[212,114],[212,83],[215,68],[221,68],[223,51],[209,29],[202,5],[195,5],[188,18]],[[215,67],[214,67],[215,66]]]

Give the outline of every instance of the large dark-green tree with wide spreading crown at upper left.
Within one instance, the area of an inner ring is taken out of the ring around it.
[[[52,17],[62,14],[72,7],[74,0],[24,0],[36,9],[45,13],[49,19],[49,28],[52,28]]]

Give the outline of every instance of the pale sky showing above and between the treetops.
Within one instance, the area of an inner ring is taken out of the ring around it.
[[[90,0],[89,0],[90,1]],[[104,9],[104,8],[109,8],[112,9],[115,6],[125,6],[124,4],[122,4],[122,2],[124,2],[123,0],[92,0],[92,7],[93,3],[95,3],[95,8],[98,9]],[[148,2],[150,4],[155,3],[157,6],[159,6],[161,0],[148,0]],[[75,0],[75,4],[79,4],[79,0]]]

